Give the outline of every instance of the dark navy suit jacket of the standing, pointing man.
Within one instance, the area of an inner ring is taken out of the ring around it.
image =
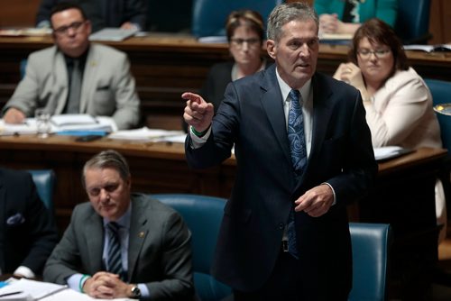
[[[205,145],[193,150],[187,139],[187,160],[197,169],[220,164],[235,145],[235,186],[226,204],[212,270],[235,289],[262,287],[279,256],[292,203],[327,182],[334,187],[336,205],[317,218],[295,214],[299,263],[304,267],[299,273],[305,276],[303,286],[308,289],[304,291],[313,291],[316,300],[334,300],[336,294],[350,291],[346,205],[372,186],[377,164],[358,90],[318,73],[312,87],[312,144],[302,178],[293,176],[275,65],[226,88]]]

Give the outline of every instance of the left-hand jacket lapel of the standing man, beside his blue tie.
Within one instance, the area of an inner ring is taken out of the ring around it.
[[[281,98],[281,88],[279,87],[275,64],[263,73],[262,89],[266,91],[262,95],[262,107],[268,115],[271,123],[272,131],[276,136],[276,140],[281,145],[287,160],[291,162],[290,143],[287,135],[287,125],[285,123],[285,114],[283,112],[283,99]]]

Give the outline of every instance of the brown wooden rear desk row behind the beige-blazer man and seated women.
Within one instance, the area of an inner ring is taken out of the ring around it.
[[[0,107],[12,96],[20,80],[19,62],[34,50],[53,44],[51,37],[0,37]],[[131,59],[143,114],[151,117],[151,126],[158,126],[167,116],[172,124],[163,127],[179,128],[185,91],[198,91],[209,68],[229,59],[226,44],[199,43],[187,34],[152,33],[120,42],[106,42],[124,50]],[[339,63],[346,61],[347,46],[320,45],[318,71],[332,75]],[[265,50],[262,50],[263,54]],[[451,80],[451,55],[409,51],[410,62],[425,78]]]

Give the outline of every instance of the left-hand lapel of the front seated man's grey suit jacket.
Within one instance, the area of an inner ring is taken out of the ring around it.
[[[86,248],[88,252],[88,258],[91,259],[90,266],[92,270],[102,270],[104,269],[102,262],[102,254],[104,251],[104,225],[102,223],[102,217],[97,213],[91,214],[88,219],[88,223],[84,225],[83,233],[87,237]],[[102,239],[98,239],[101,237]]]

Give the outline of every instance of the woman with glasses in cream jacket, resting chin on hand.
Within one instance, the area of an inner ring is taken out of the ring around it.
[[[375,18],[364,23],[354,34],[349,59],[340,64],[334,78],[360,90],[373,147],[442,147],[429,89],[409,66],[402,43],[388,24]],[[437,182],[437,223],[446,225],[444,198]],[[443,229],[440,240],[446,226]]]

